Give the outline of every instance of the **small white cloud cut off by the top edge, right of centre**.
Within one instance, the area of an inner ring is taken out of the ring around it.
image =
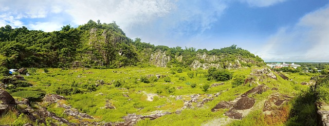
[[[239,0],[243,3],[248,3],[249,6],[256,6],[256,7],[267,7],[271,5],[275,5],[278,3],[285,2],[287,0]]]

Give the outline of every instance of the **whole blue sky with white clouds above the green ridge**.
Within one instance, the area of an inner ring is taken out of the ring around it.
[[[51,32],[89,19],[154,45],[235,44],[265,61],[329,61],[329,0],[0,0],[0,27]]]

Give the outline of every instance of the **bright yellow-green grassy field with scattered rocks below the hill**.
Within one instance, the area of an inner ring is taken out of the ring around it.
[[[252,68],[261,69],[261,68]],[[233,72],[233,79],[237,75],[250,77],[251,68],[230,70]],[[193,73],[193,77],[190,75]],[[32,87],[16,88],[16,92],[12,93],[15,97],[31,97],[22,95],[20,92],[28,92],[28,95],[37,95],[34,92],[43,92],[45,94],[60,94],[68,100],[72,108],[78,109],[82,113],[93,116],[94,120],[89,121],[124,121],[123,116],[127,114],[150,115],[155,112],[175,112],[181,110],[184,106],[183,100],[189,100],[188,95],[200,94],[205,98],[207,94],[221,95],[214,100],[204,104],[203,107],[193,109],[184,109],[180,114],[171,114],[162,116],[155,120],[145,119],[137,123],[137,125],[201,125],[212,119],[227,118],[224,113],[227,110],[211,112],[210,110],[220,101],[230,101],[235,99],[239,94],[256,87],[257,85],[266,85],[270,89],[278,88],[279,92],[288,96],[297,96],[301,91],[308,89],[308,86],[300,85],[302,81],[309,81],[312,75],[299,75],[284,73],[294,81],[288,81],[280,78],[278,80],[272,78],[264,78],[253,85],[239,86],[232,88],[232,80],[214,81],[207,80],[207,70],[184,69],[181,73],[175,72],[169,68],[122,68],[122,69],[36,69],[30,76],[24,76],[31,83]],[[161,77],[157,79],[156,75]],[[145,81],[144,79],[148,80]],[[170,78],[170,80],[168,80]],[[224,85],[211,87],[208,91],[203,90],[204,85],[212,85],[213,83],[224,82]],[[192,88],[192,83],[196,84]],[[66,90],[69,91],[66,91]],[[262,116],[262,104],[266,98],[274,91],[254,95],[256,105],[253,111],[243,120],[235,120],[229,125],[239,124],[265,124],[264,115]],[[34,94],[33,94],[34,93]],[[153,100],[148,100],[148,96],[153,96]],[[176,96],[181,96],[182,100],[175,100]],[[38,97],[38,96],[35,96]],[[199,98],[199,101],[202,101]],[[291,102],[293,102],[292,100]],[[106,103],[110,103],[115,109],[104,109]],[[38,102],[32,102],[38,103]],[[196,104],[193,104],[194,106]],[[160,107],[159,107],[160,106]],[[71,122],[79,120],[71,119],[71,117],[63,114],[63,108],[56,108],[55,104],[47,107],[48,111],[56,113],[60,117],[69,119]],[[291,104],[287,105],[287,109],[291,109]],[[262,121],[263,122],[257,122]],[[275,123],[283,125],[283,122]]]

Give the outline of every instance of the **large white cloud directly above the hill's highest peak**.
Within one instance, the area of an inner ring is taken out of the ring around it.
[[[121,27],[148,23],[168,14],[174,7],[171,0],[110,0],[110,1],[68,1],[66,12],[75,24],[85,24],[89,19],[102,22],[116,21]]]

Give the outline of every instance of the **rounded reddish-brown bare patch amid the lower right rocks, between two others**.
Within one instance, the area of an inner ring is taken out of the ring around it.
[[[246,110],[253,107],[253,104],[255,104],[254,98],[249,97],[243,97],[236,101],[236,103],[233,106],[234,110]]]

